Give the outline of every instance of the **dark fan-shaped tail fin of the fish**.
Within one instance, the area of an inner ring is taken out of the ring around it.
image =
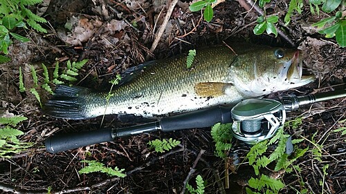
[[[84,111],[84,97],[89,88],[79,86],[58,85],[53,94],[53,98],[49,99],[44,107],[43,112],[52,117],[64,119],[87,119]]]

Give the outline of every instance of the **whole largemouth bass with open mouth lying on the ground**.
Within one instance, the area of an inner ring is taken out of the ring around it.
[[[314,81],[314,75],[302,75],[301,56],[300,50],[251,44],[205,48],[197,50],[190,68],[186,55],[129,68],[110,92],[59,85],[43,110],[65,119],[113,114],[156,118],[234,106]]]

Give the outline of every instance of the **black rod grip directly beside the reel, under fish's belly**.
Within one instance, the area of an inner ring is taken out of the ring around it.
[[[232,117],[228,106],[215,106],[190,113],[165,117],[161,119],[160,125],[163,132],[181,130],[185,128],[210,127],[217,123],[230,123]]]

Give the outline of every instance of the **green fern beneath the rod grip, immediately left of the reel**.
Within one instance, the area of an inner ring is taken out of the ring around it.
[[[232,148],[233,135],[230,132],[232,124],[215,124],[212,126],[212,130],[210,134],[212,135],[212,139],[215,142],[215,155],[217,157],[221,157],[223,159],[226,158],[225,151],[229,151]]]

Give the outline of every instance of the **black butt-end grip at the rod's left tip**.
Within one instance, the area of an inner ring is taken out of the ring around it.
[[[110,142],[113,140],[111,131],[111,128],[104,128],[80,133],[54,135],[46,139],[46,151],[49,153],[58,153],[82,146]]]

